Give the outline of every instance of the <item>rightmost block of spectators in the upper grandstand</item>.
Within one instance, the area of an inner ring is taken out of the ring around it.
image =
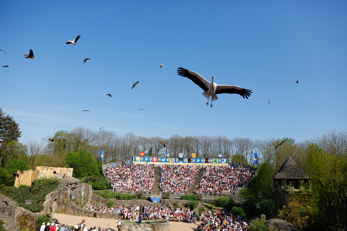
[[[195,193],[235,194],[251,177],[252,172],[243,166],[207,166]]]

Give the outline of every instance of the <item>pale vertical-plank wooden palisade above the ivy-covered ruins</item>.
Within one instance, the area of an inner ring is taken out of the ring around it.
[[[37,166],[36,170],[27,170],[27,171],[17,171],[18,177],[15,180],[15,187],[19,187],[20,185],[27,185],[31,187],[31,184],[40,178],[54,177],[53,171],[56,171],[57,174],[65,174],[67,176],[72,176],[73,168],[54,168],[54,167],[43,167]]]

